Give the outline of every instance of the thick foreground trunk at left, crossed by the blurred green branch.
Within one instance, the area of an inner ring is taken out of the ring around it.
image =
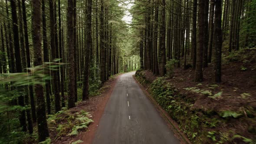
[[[42,38],[41,38],[41,0],[32,0],[32,38],[34,48],[34,65],[42,65]],[[36,95],[36,115],[38,127],[38,141],[45,141],[49,137],[48,126],[46,121],[46,108],[43,96],[43,85],[35,85]]]

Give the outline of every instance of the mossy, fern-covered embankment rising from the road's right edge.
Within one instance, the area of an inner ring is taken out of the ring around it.
[[[192,143],[255,143],[256,107],[249,105],[252,103],[235,107],[216,108],[216,105],[211,107],[213,103],[217,104],[226,99],[222,95],[223,92],[207,90],[206,84],[197,84],[189,88],[177,87],[171,82],[175,78],[156,77],[150,71],[137,71],[135,78],[176,121]],[[209,87],[214,88],[217,85],[209,85]],[[243,96],[248,95],[244,93]],[[207,106],[208,103],[210,107]]]

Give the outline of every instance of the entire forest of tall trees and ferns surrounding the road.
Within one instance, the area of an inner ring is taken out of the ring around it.
[[[86,143],[92,101],[135,70],[189,143],[255,143],[255,13],[256,0],[0,0],[0,143]]]

